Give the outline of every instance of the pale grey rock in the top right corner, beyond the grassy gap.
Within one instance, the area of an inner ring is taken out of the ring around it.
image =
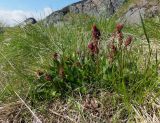
[[[128,24],[140,24],[140,14],[143,18],[153,18],[160,14],[160,2],[158,0],[139,0],[138,3],[129,6],[128,11],[121,20]]]

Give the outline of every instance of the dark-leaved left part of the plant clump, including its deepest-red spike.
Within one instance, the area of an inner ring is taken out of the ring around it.
[[[100,30],[92,28],[92,39],[88,44],[88,53],[81,51],[68,55],[55,52],[47,70],[36,72],[36,81],[31,89],[35,99],[51,99],[66,96],[72,91],[86,92],[86,84],[96,81],[97,59],[99,53]],[[74,54],[74,55],[73,55]]]

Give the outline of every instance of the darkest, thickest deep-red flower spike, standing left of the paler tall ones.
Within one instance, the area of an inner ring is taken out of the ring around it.
[[[100,36],[101,36],[100,30],[97,28],[96,25],[93,25],[93,27],[92,27],[92,41],[88,44],[88,48],[90,49],[90,52],[92,53],[92,55],[99,53]]]

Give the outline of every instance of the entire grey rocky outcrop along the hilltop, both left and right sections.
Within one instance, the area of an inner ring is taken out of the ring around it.
[[[129,6],[123,6],[125,2]],[[142,17],[153,18],[160,13],[159,0],[82,0],[80,2],[71,4],[61,10],[55,11],[44,19],[45,25],[61,22],[68,13],[84,13],[91,16],[110,17],[118,8],[124,9],[123,14],[120,15],[119,21],[128,24],[140,24]],[[125,8],[126,7],[126,8]]]

